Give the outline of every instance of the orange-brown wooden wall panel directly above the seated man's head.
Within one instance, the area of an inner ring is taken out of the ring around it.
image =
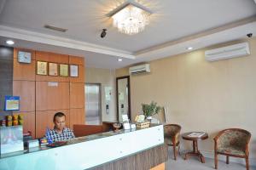
[[[69,83],[36,82],[36,111],[69,109]]]

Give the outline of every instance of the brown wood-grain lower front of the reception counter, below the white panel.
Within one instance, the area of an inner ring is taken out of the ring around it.
[[[137,154],[121,158],[117,161],[112,161],[103,164],[99,167],[90,169],[94,170],[118,170],[118,169],[134,169],[134,170],[145,170],[153,167],[160,166],[160,164],[166,162],[168,159],[167,146],[161,144],[154,148],[144,150]],[[162,169],[162,165],[160,166]]]

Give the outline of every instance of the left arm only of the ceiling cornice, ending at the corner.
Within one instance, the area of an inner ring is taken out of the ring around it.
[[[64,37],[56,37],[35,31],[26,31],[18,28],[0,25],[0,36],[14,39],[25,40],[29,42],[39,42],[64,48],[73,48],[84,51],[90,51],[98,54],[108,54],[114,57],[126,59],[135,59],[135,56],[128,51],[116,48],[108,48],[88,42],[76,41]]]

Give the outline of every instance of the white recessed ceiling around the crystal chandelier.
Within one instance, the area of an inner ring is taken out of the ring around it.
[[[107,16],[124,2],[0,0],[0,44],[12,38],[15,47],[76,54],[89,67],[116,69],[256,35],[253,0],[137,0],[153,14],[133,36],[119,33]],[[67,32],[47,30],[46,24]],[[108,33],[101,38],[103,28]]]

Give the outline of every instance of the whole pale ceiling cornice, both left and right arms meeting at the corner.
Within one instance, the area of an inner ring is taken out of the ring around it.
[[[248,29],[248,27],[250,29]],[[73,39],[55,37],[34,31],[21,30],[9,26],[0,25],[0,37],[9,37],[29,42],[39,42],[63,48],[73,48],[82,51],[94,52],[97,54],[108,54],[113,57],[122,57],[126,59],[135,59],[136,61],[148,61],[160,59],[167,56],[182,54],[188,52],[185,48],[193,44],[194,49],[205,48],[212,44],[233,41],[241,38],[245,32],[256,28],[256,16],[238,20],[236,22],[202,31],[189,37],[183,37],[172,42],[166,42],[152,48],[147,48],[133,54],[129,51],[123,51],[116,48],[108,48],[89,42],[81,42]],[[256,29],[255,29],[256,30]],[[252,31],[254,32],[254,31]],[[248,32],[246,32],[248,33]],[[255,34],[255,32],[254,32]]]

